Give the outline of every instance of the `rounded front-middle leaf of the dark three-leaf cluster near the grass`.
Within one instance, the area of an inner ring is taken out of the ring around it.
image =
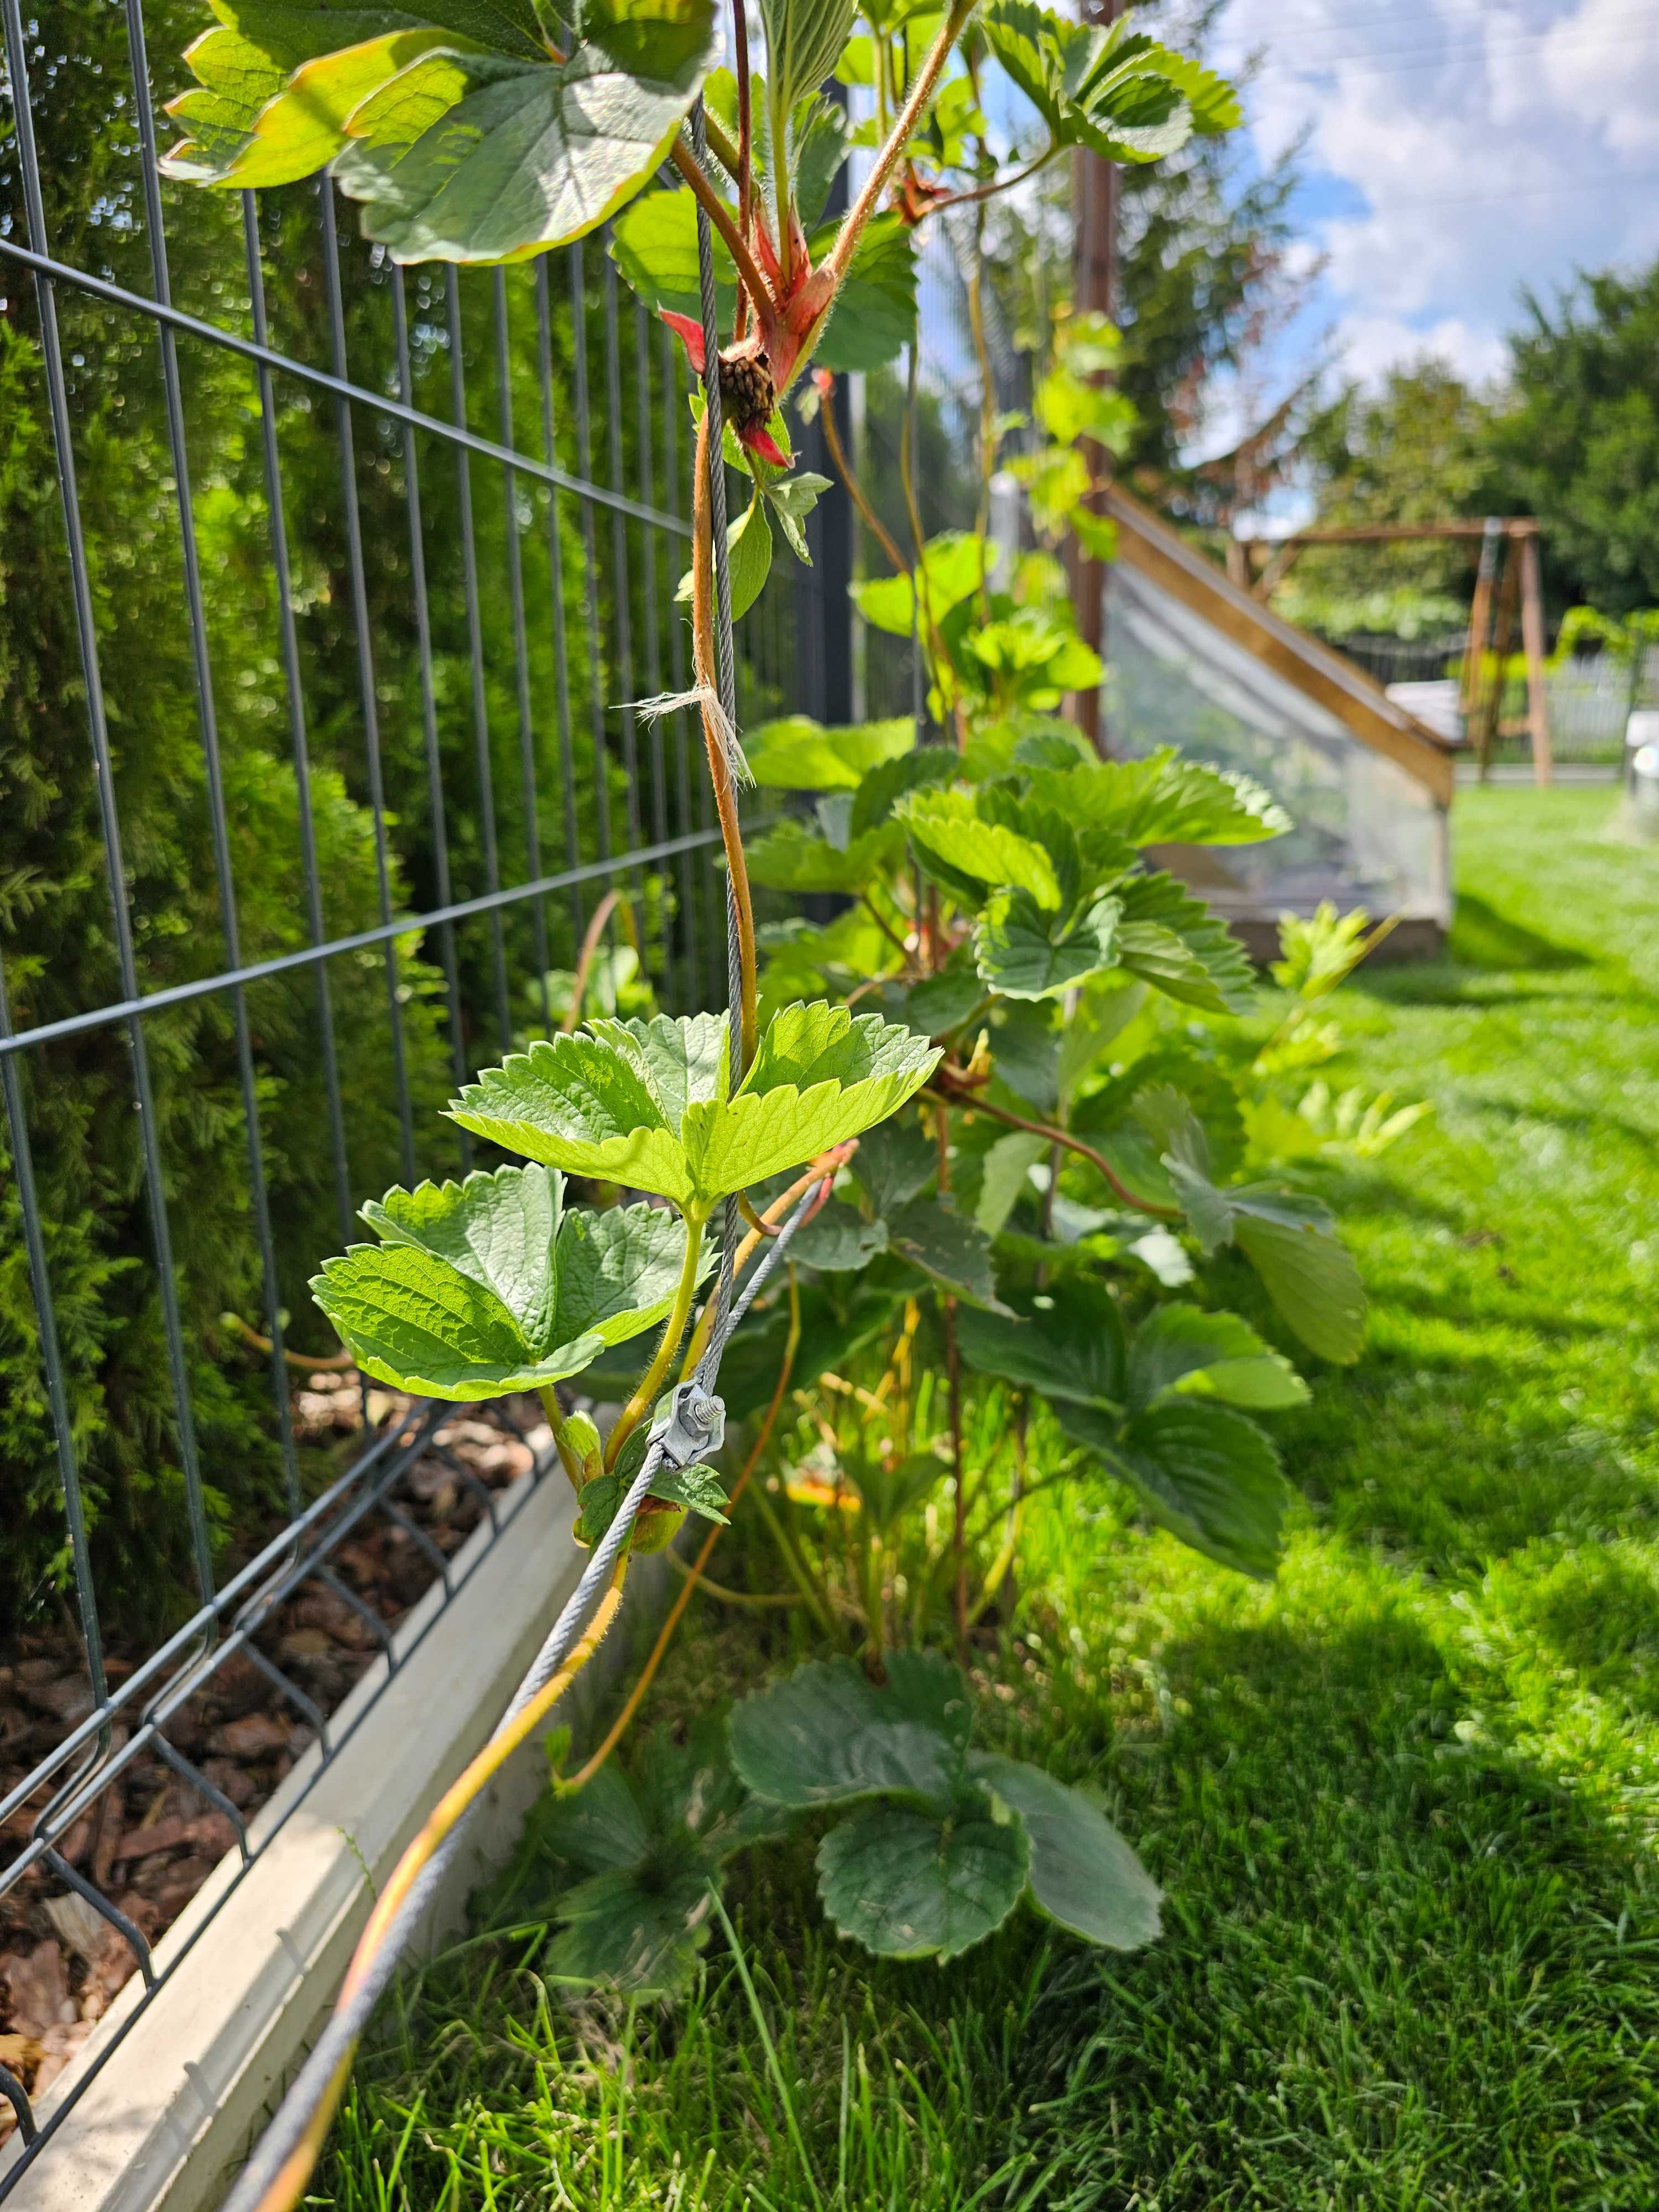
[[[878,1958],[958,1958],[1002,1927],[1026,1887],[1024,1825],[980,1792],[949,1812],[867,1805],[818,1845],[818,1896]]]

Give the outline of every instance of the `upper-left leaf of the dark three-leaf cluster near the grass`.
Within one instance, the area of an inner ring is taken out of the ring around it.
[[[945,1659],[896,1655],[885,1690],[852,1659],[814,1659],[732,1708],[732,1765],[774,1805],[949,1801],[967,1732],[962,1677]]]

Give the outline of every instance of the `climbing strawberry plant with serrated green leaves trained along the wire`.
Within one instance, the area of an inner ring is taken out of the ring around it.
[[[1170,752],[1102,761],[1057,719],[1102,679],[1051,549],[1110,551],[1095,469],[1124,403],[1102,383],[1104,325],[1062,325],[1037,392],[1020,469],[1046,549],[1011,560],[984,529],[927,544],[916,529],[909,557],[885,540],[896,573],[860,586],[865,619],[918,644],[922,714],[779,723],[745,757],[730,688],[730,619],[765,582],[774,533],[805,557],[825,489],[794,469],[783,403],[807,372],[810,405],[836,372],[914,347],[916,226],[1075,146],[1155,161],[1230,128],[1230,86],[1128,18],[1086,27],[1029,0],[867,7],[863,22],[854,0],[763,0],[765,75],[741,7],[732,69],[714,69],[712,0],[593,0],[568,22],[535,0],[215,0],[215,13],[190,49],[199,84],[175,102],[173,175],[250,188],[327,166],[396,261],[522,259],[611,221],[617,268],[684,338],[703,387],[688,697],[732,951],[723,1013],[580,1022],[577,973],[566,1029],[484,1068],[449,1108],[511,1161],[389,1190],[365,1208],[376,1241],[314,1283],[358,1365],[398,1389],[542,1394],[593,1548],[580,1597],[593,1590],[597,1610],[580,1641],[571,1617],[380,1896],[332,2039],[232,2199],[276,2208],[305,2185],[365,2004],[482,1783],[597,1648],[633,1553],[666,1546],[688,1513],[723,1520],[708,1467],[723,1418],[765,1407],[752,1469],[790,1380],[872,1345],[909,1360],[922,1327],[942,1360],[945,1455],[916,1449],[911,1396],[909,1433],[885,1436],[865,1469],[856,1637],[825,1608],[823,1657],[745,1699],[728,1736],[661,1761],[650,1803],[591,1761],[557,1807],[588,1874],[562,1902],[564,1971],[675,1986],[721,1860],[814,1807],[847,1807],[821,1847],[821,1893],[872,1951],[953,1958],[1026,1893],[1097,1944],[1148,1942],[1157,1889],[1104,1812],[975,1750],[960,1666],[905,1648],[942,1626],[960,1657],[1006,1573],[971,1588],[962,1374],[989,1378],[1015,1425],[1040,1400],[1181,1540],[1270,1575],[1287,1491],[1261,1416],[1307,1387],[1243,1318],[1161,1292],[1192,1283],[1192,1252],[1237,1248],[1332,1360],[1358,1354],[1363,1296],[1323,1203],[1248,1168],[1252,1128],[1256,1159],[1276,1157],[1274,1082],[1316,1064],[1316,1024],[1276,1040],[1276,1062],[1217,1042],[1250,1004],[1250,969],[1159,865],[1159,847],[1254,843],[1285,816]],[[1022,159],[989,150],[993,64],[1037,117]],[[832,73],[872,91],[858,131],[823,93]],[[869,159],[852,206],[825,221],[856,146]],[[984,425],[987,476],[1002,429]],[[728,467],[750,484],[730,524]],[[920,741],[927,728],[938,741]],[[745,845],[745,779],[812,794],[814,814]],[[761,929],[752,887],[849,905],[816,929]],[[1358,949],[1329,918],[1307,998]],[[1318,1115],[1296,1119],[1312,1148],[1329,1141]],[[575,1203],[571,1179],[593,1203]],[[726,1336],[768,1272],[774,1294],[734,1336],[726,1378]],[[562,1385],[606,1396],[648,1332],[602,1436]],[[940,1480],[942,1601],[925,1588],[911,1632],[891,1635],[883,1542]],[[1018,1535],[1018,1495],[1009,1520]]]

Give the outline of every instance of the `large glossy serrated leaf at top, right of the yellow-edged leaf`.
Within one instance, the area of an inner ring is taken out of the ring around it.
[[[650,181],[717,51],[712,0],[588,0],[566,62],[434,51],[347,119],[334,177],[394,261],[500,261]]]

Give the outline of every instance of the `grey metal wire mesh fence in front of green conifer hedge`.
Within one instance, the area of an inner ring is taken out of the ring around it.
[[[405,272],[327,186],[164,184],[197,29],[0,0],[0,2197],[551,1453],[369,1389],[307,1274],[476,1164],[434,1108],[608,891],[611,1002],[723,1002],[701,741],[633,706],[684,358],[602,232]],[[768,586],[748,723],[823,708],[836,593]]]

